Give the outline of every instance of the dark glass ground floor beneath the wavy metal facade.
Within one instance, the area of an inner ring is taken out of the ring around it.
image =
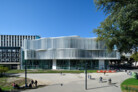
[[[25,60],[21,64],[21,68],[25,69],[67,69],[67,70],[83,70],[87,62],[87,69],[103,69],[108,68],[108,60],[102,62],[100,60]]]

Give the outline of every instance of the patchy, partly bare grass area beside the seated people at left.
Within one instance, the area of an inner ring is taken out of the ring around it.
[[[28,82],[31,81],[31,79],[27,79]],[[19,86],[24,85],[25,83],[24,78],[19,77],[0,77],[0,88],[2,88],[3,91],[10,91],[13,90],[12,83],[16,83]]]

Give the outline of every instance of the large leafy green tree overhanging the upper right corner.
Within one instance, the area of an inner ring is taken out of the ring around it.
[[[109,51],[138,51],[138,0],[94,0],[98,10],[108,16],[94,29],[97,40],[104,40]]]

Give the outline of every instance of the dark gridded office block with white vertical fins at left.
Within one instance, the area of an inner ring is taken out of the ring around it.
[[[38,39],[32,35],[0,35],[0,65],[20,69],[21,47],[24,39]]]

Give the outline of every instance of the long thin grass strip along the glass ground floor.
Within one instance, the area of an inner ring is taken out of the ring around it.
[[[84,73],[84,70],[27,70],[28,73]],[[88,73],[95,73],[97,70],[87,70]],[[24,70],[9,70],[6,73],[24,73]]]

